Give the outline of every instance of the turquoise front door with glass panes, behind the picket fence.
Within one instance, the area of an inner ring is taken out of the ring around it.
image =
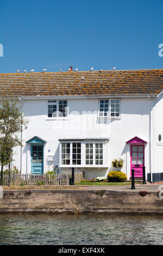
[[[43,145],[31,145],[31,172],[43,174]]]

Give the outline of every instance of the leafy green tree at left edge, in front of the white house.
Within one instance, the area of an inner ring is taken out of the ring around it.
[[[3,167],[12,161],[13,148],[20,145],[20,132],[27,128],[28,121],[23,117],[18,101],[12,97],[4,98],[0,102],[0,163],[1,185],[3,185]]]

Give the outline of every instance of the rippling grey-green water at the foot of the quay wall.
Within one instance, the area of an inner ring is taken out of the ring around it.
[[[1,214],[0,245],[163,245],[163,217]]]

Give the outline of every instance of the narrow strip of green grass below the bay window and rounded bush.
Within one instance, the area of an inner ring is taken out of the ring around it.
[[[135,182],[135,184],[141,184],[141,182]],[[78,186],[122,186],[122,185],[131,185],[130,181],[126,182],[91,182],[91,181],[80,181],[79,183],[76,183]]]

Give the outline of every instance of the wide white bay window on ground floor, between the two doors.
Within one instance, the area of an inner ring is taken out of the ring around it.
[[[60,167],[106,167],[108,139],[60,141]]]

